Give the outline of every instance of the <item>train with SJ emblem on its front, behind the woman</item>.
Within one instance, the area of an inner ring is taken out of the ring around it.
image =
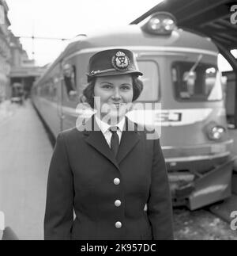
[[[180,29],[171,13],[82,34],[68,44],[32,86],[33,105],[53,136],[92,115],[92,109],[77,107],[87,86],[88,59],[109,48],[127,48],[136,55],[144,74],[144,90],[136,102],[161,105],[153,120],[160,126],[174,206],[194,210],[230,197],[233,140],[218,48],[208,37]]]

